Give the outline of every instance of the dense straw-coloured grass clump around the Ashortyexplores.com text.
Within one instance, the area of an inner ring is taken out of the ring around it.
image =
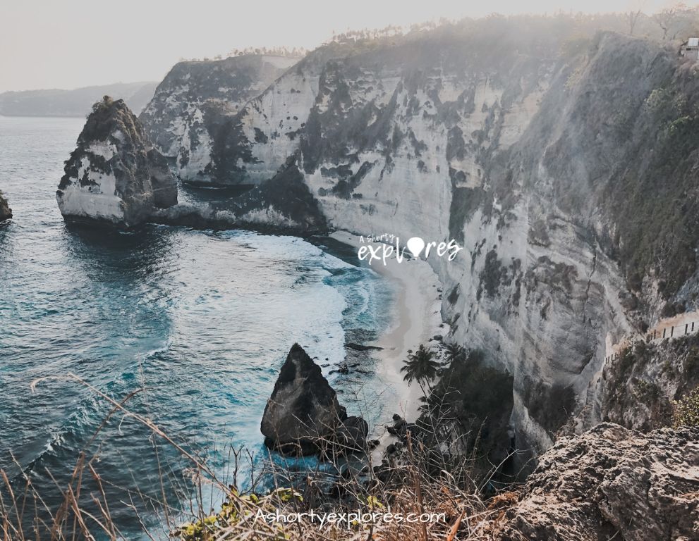
[[[313,478],[307,478],[305,487],[296,490],[281,488],[265,497],[245,495],[253,509],[243,507],[238,500],[229,499],[218,513],[203,521],[188,523],[177,535],[184,540],[269,539],[269,532],[260,524],[267,523],[262,514],[279,516],[291,514],[291,522],[277,519],[274,539],[286,540],[488,540],[494,519],[502,516],[502,503],[487,506],[478,490],[466,490],[446,471],[430,474],[428,454],[420,444],[413,445],[408,435],[408,447],[388,468],[380,468],[379,475],[345,477],[334,480],[343,496],[324,504],[309,502],[314,488]],[[384,479],[384,480],[382,480]],[[475,484],[471,484],[475,487]],[[510,493],[511,495],[512,493]],[[309,516],[314,509],[317,516]],[[322,517],[334,513],[364,514],[365,521],[343,520],[322,523]],[[305,516],[303,515],[305,514]],[[384,521],[391,514],[392,521]],[[408,522],[432,514],[430,521]],[[372,520],[367,520],[368,518]],[[402,522],[396,522],[402,516]]]

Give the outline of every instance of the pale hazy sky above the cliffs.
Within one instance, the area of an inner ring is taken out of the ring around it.
[[[643,0],[641,0],[643,2]],[[0,92],[160,80],[178,58],[304,46],[332,31],[488,13],[625,11],[638,0],[0,0]],[[652,12],[662,0],[646,0]]]

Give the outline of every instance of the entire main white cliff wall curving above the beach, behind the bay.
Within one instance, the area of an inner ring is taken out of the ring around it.
[[[272,178],[296,154],[330,228],[463,244],[433,261],[448,340],[513,375],[513,432],[538,454],[561,428],[601,420],[607,337],[639,332],[659,297],[699,282],[690,263],[681,275],[652,263],[637,248],[665,233],[624,218],[647,211],[624,196],[650,182],[628,164],[652,154],[657,89],[680,68],[642,40],[599,35],[563,57],[547,32],[499,30],[497,48],[437,31],[314,51],[212,145],[237,182]]]

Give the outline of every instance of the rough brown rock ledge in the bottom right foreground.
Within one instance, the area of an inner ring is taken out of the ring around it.
[[[699,539],[699,429],[602,423],[540,456],[494,539]]]

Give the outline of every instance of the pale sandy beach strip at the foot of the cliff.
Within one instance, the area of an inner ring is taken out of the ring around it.
[[[329,237],[357,249],[363,245],[359,235],[346,231],[333,232]],[[399,413],[406,421],[413,422],[418,418],[422,390],[418,383],[408,385],[403,380],[401,368],[409,352],[415,352],[420,344],[437,352],[441,349],[442,342],[432,338],[449,332],[449,325],[442,322],[442,284],[424,259],[404,259],[398,263],[391,257],[385,266],[375,262],[370,268],[396,286],[391,325],[375,342],[368,344],[382,348],[374,353],[379,361],[377,376],[391,390],[387,398],[393,402],[384,406],[390,415]],[[383,422],[387,421],[390,419]]]

